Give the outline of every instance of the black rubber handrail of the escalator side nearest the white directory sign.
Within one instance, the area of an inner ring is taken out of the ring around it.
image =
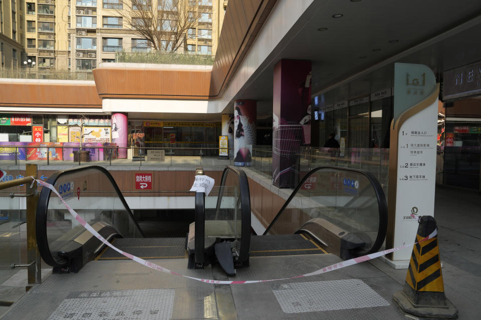
[[[272,220],[272,222],[266,228],[263,235],[266,235],[269,232],[269,229],[274,225],[274,223],[276,223],[279,216],[284,212],[284,209],[286,209],[286,207],[289,205],[291,200],[296,196],[297,192],[303,186],[306,179],[309,176],[311,176],[314,172],[322,170],[322,169],[334,169],[334,170],[343,171],[343,172],[361,174],[361,175],[364,175],[369,180],[371,185],[373,186],[374,192],[376,193],[377,203],[378,203],[378,208],[379,208],[378,232],[377,232],[376,240],[374,241],[374,244],[371,246],[371,248],[369,250],[357,251],[357,253],[361,255],[361,254],[369,254],[369,253],[376,252],[381,247],[382,243],[384,242],[384,238],[386,236],[386,231],[387,231],[387,202],[386,202],[386,197],[385,197],[384,191],[382,189],[382,186],[379,183],[379,181],[376,179],[376,177],[371,172],[367,172],[367,171],[360,170],[360,169],[334,166],[334,165],[318,166],[318,167],[312,169],[311,171],[309,171],[301,179],[301,181],[298,183],[298,185],[294,188],[294,191],[291,193],[289,198],[286,200],[284,205],[281,207],[279,212],[276,214],[276,216]]]

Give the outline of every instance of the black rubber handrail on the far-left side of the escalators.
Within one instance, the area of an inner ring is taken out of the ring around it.
[[[117,195],[120,198],[120,201],[122,202],[122,204],[124,205],[128,214],[130,215],[130,218],[134,221],[135,226],[138,228],[141,236],[143,237],[144,233],[142,232],[142,229],[140,228],[139,224],[137,223],[137,220],[134,218],[134,215],[132,214],[132,211],[130,210],[130,207],[128,206],[127,201],[125,201],[125,198],[122,195],[122,192],[120,191],[119,187],[117,186],[117,183],[115,182],[114,178],[112,177],[112,175],[110,174],[110,172],[106,168],[104,168],[100,165],[88,165],[88,166],[80,166],[80,167],[75,167],[75,168],[71,168],[71,169],[64,169],[64,170],[55,171],[47,179],[47,183],[55,185],[55,182],[63,174],[82,171],[82,170],[86,170],[86,169],[97,169],[99,171],[102,171],[107,176],[107,178],[112,183],[115,191],[117,192]],[[47,264],[49,264],[51,266],[64,266],[64,265],[67,265],[69,261],[67,259],[65,259],[65,261],[62,263],[61,261],[55,259],[52,256],[52,252],[50,251],[48,237],[47,237],[47,210],[49,208],[49,201],[50,201],[51,192],[52,192],[52,190],[47,188],[47,187],[42,188],[42,191],[40,192],[39,202],[38,202],[38,205],[37,205],[37,214],[36,214],[36,219],[35,219],[35,231],[36,231],[36,236],[37,236],[37,245],[38,245],[39,252],[40,252],[40,255],[41,255],[42,259],[44,259],[44,261]],[[62,260],[63,260],[63,258],[62,258]]]

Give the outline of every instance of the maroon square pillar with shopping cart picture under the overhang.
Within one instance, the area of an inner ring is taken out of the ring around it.
[[[282,59],[274,66],[273,183],[299,181],[299,149],[310,143],[311,61]]]

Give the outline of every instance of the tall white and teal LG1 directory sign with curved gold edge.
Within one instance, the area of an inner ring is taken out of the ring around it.
[[[439,84],[423,64],[395,63],[394,118],[389,150],[386,248],[409,243],[418,228],[416,216],[434,215]],[[407,267],[411,252],[388,259]]]

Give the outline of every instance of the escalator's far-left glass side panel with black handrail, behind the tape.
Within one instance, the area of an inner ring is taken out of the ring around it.
[[[107,240],[142,237],[110,173],[100,166],[56,171],[53,184],[65,202]],[[49,188],[43,187],[37,209],[37,242],[44,261],[54,271],[78,271],[95,257],[103,243],[87,231]]]

